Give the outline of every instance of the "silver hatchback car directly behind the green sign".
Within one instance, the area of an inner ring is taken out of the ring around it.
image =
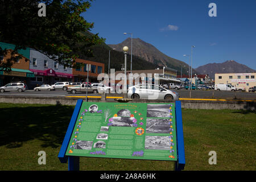
[[[158,85],[141,84],[130,86],[127,92],[128,98],[148,99],[148,100],[179,100],[177,92],[164,89]]]

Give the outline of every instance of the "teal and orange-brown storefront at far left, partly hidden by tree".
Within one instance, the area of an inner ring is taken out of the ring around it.
[[[0,43],[2,49],[7,49],[6,55],[0,55],[0,61],[6,61],[11,57],[11,51],[15,48],[13,44]],[[0,86],[9,84],[10,82],[23,81],[28,85],[31,78],[35,77],[34,73],[29,70],[29,61],[26,61],[30,57],[30,49],[24,49],[18,51],[16,56],[22,56],[20,59],[16,59],[11,67],[11,72],[0,71]]]

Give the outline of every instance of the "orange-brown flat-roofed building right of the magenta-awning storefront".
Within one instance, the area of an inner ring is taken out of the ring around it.
[[[86,82],[87,70],[86,65],[91,65],[91,70],[88,73],[89,82],[98,82],[97,77],[100,73],[104,73],[105,64],[97,63],[94,61],[88,61],[84,59],[76,59],[76,64],[81,65],[77,68],[73,68],[73,82]]]

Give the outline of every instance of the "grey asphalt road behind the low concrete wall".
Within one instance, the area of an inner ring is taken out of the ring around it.
[[[180,98],[189,98],[189,90],[175,90],[180,94]],[[64,90],[52,90],[52,91],[39,91],[26,90],[25,92],[5,92],[0,93],[2,95],[9,96],[42,96],[42,97],[67,97],[67,96],[86,96],[85,93],[68,93]],[[100,94],[88,94],[88,96],[100,96]],[[121,96],[121,95],[120,95]],[[256,100],[256,92],[232,92],[232,91],[214,91],[214,90],[191,90],[191,98],[222,98],[233,100],[234,98],[240,100]]]

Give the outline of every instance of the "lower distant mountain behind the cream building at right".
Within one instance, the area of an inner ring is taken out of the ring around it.
[[[255,73],[254,69],[244,64],[237,63],[234,60],[225,61],[224,63],[209,63],[195,69],[200,74],[208,74],[214,78],[215,73]]]

